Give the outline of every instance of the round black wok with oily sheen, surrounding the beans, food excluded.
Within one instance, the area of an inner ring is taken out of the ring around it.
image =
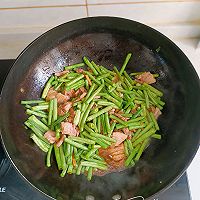
[[[160,48],[157,53],[155,50]],[[55,163],[48,169],[43,154],[24,129],[22,99],[40,96],[48,77],[86,55],[108,68],[120,67],[133,53],[127,71],[159,73],[156,87],[164,92],[166,106],[159,118],[161,141],[143,154],[134,168],[94,177],[60,178]],[[169,187],[186,170],[200,141],[200,82],[184,53],[154,29],[127,19],[94,17],[62,24],[37,38],[17,58],[1,93],[1,135],[16,169],[35,188],[58,199],[150,198]]]

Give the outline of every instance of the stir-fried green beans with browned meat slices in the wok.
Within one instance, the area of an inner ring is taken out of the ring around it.
[[[131,56],[113,71],[84,56],[82,63],[52,75],[41,99],[21,101],[30,115],[24,123],[30,138],[47,154],[47,167],[55,154],[61,177],[86,173],[91,180],[109,165],[133,166],[151,138],[161,139],[163,93],[150,85],[159,75],[129,75]]]

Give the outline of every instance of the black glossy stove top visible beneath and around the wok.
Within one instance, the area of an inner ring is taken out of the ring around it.
[[[13,64],[14,60],[0,60],[0,89]],[[0,143],[0,199],[2,200],[50,200],[29,183],[14,169],[6,157]],[[139,199],[139,198],[137,198]],[[141,198],[140,198],[141,199]],[[168,190],[152,200],[191,200],[187,174],[183,176]]]

